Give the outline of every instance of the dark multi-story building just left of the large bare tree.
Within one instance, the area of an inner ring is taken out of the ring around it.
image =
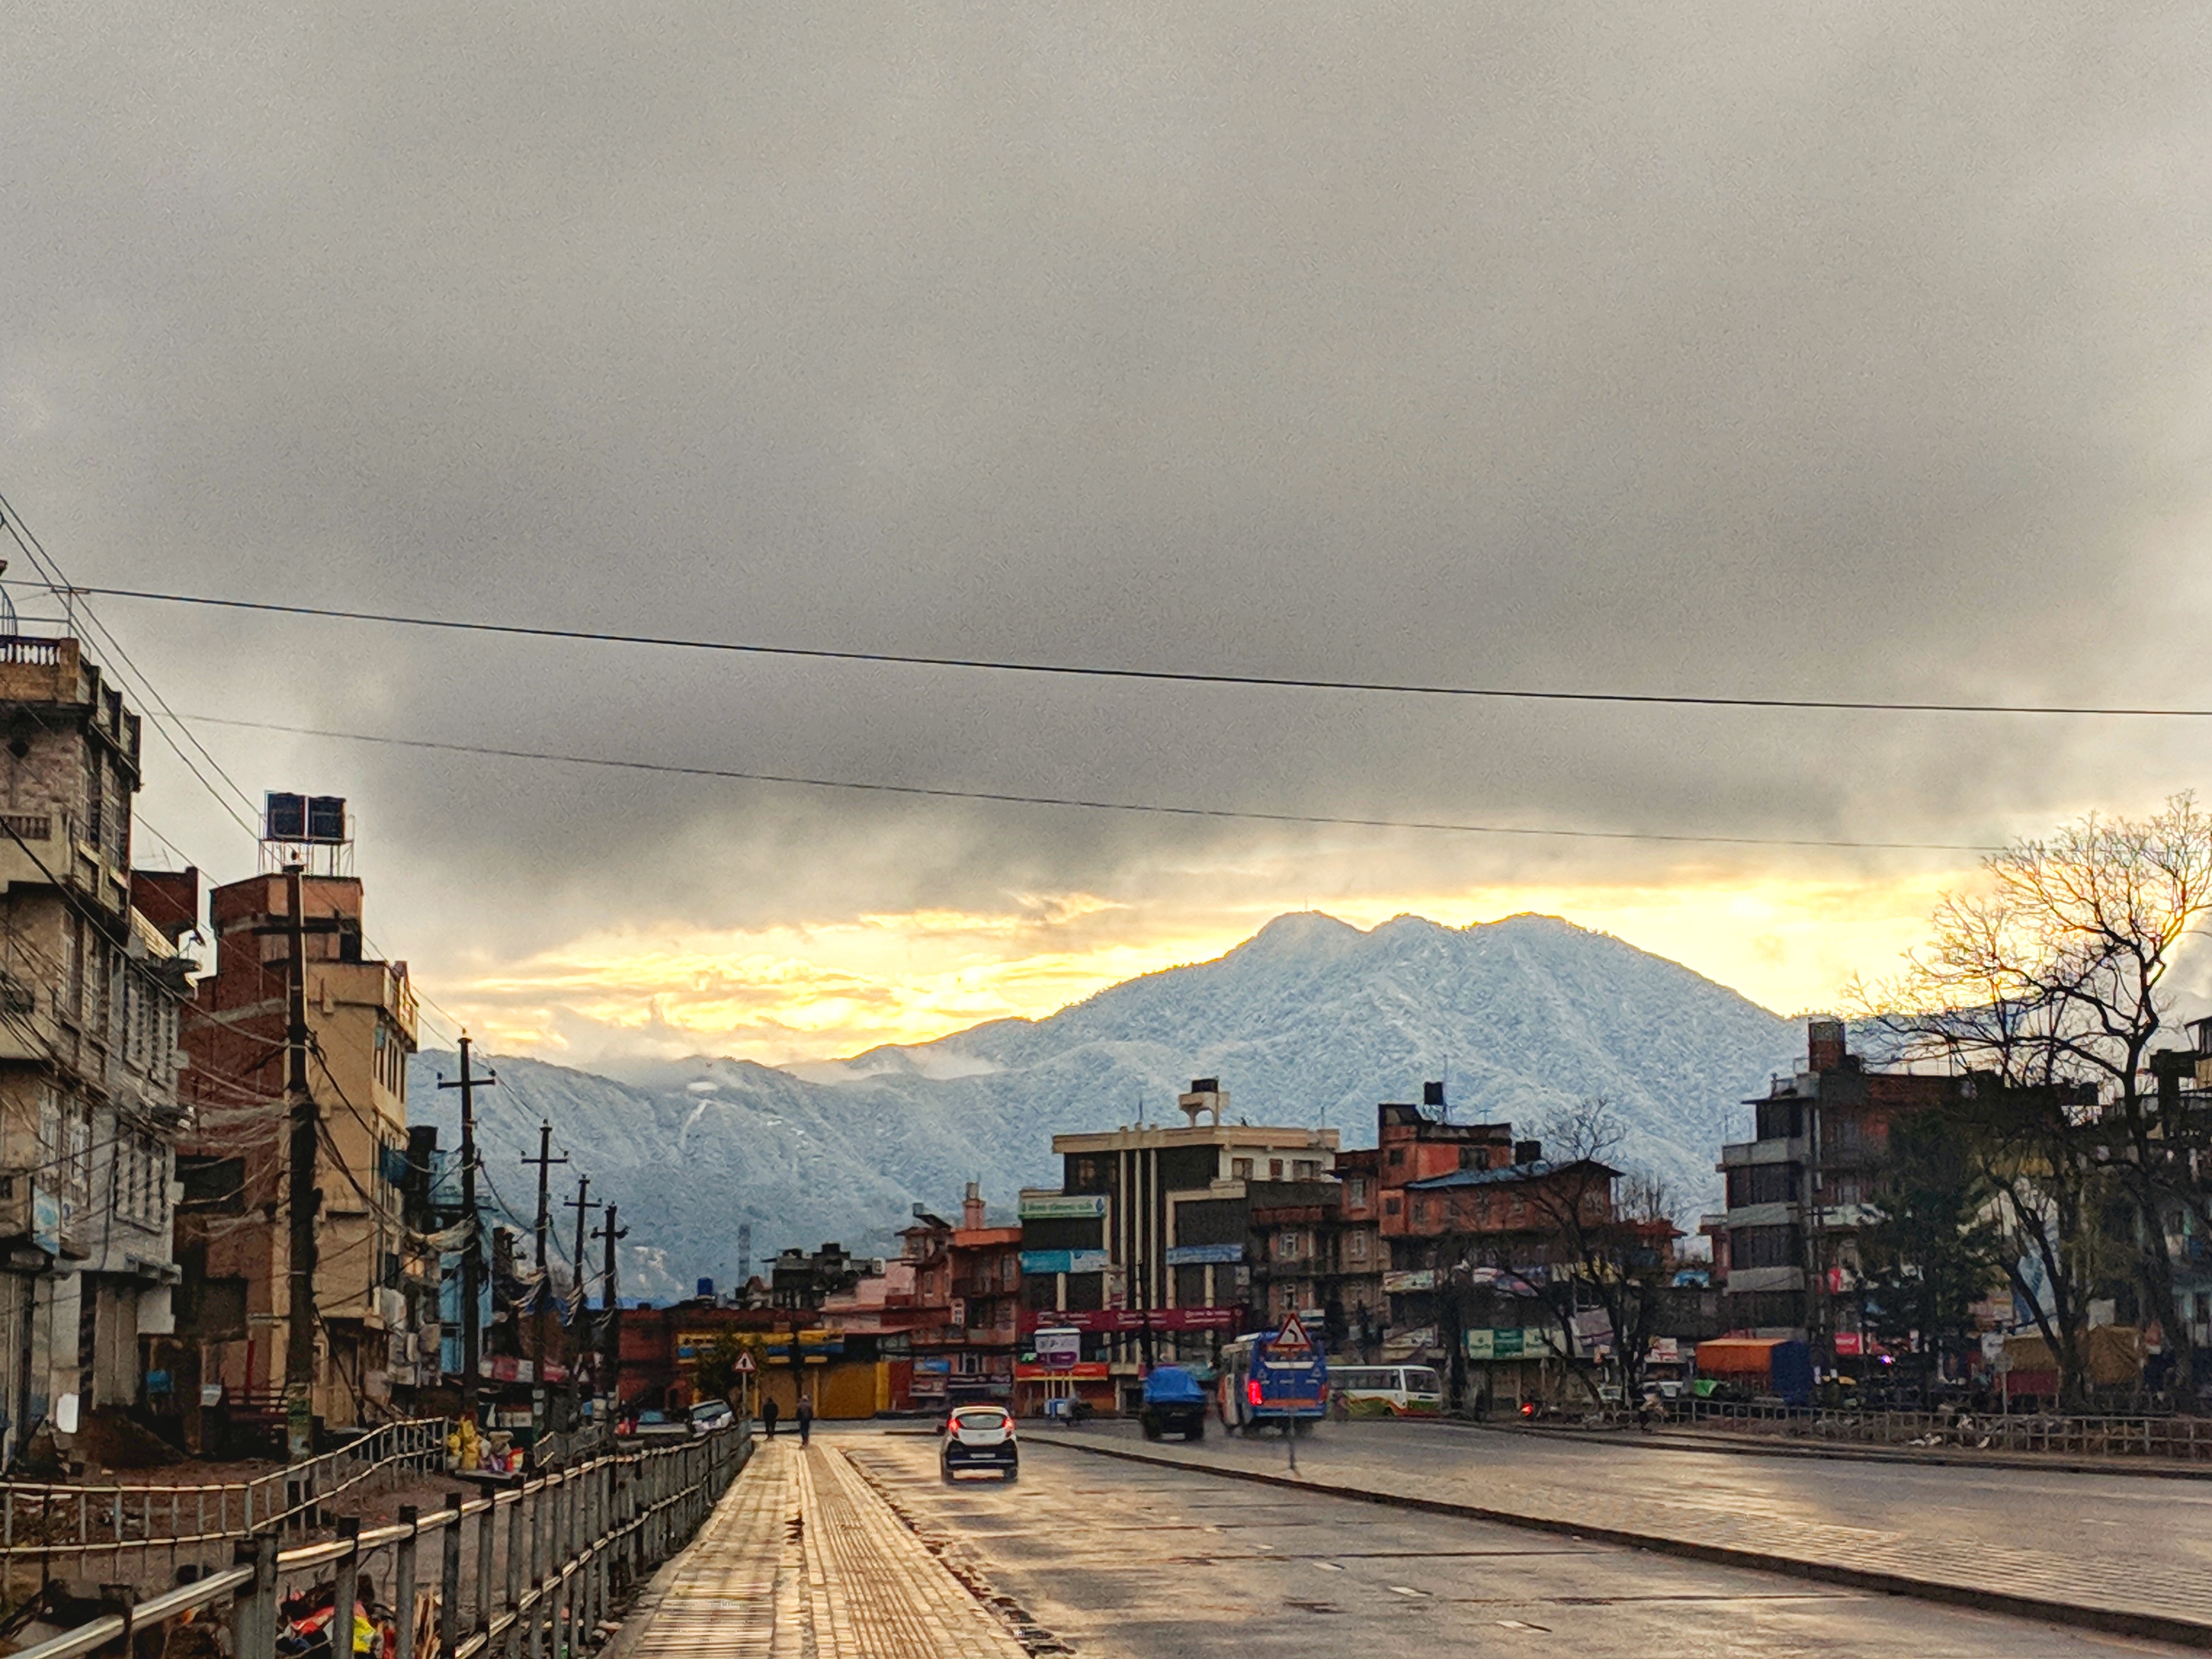
[[[1958,1099],[1960,1077],[1871,1071],[1843,1020],[1809,1020],[1805,1066],[1747,1099],[1754,1139],[1721,1148],[1728,1210],[1708,1228],[1725,1272],[1725,1321],[1759,1336],[1803,1336],[1823,1363],[1863,1349],[1858,1232],[1893,1119]]]

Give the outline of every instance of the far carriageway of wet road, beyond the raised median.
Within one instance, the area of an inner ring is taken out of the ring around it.
[[[1031,1440],[1044,1433],[1051,1431],[1040,1429]],[[1133,1425],[1071,1433],[1141,1444]],[[1267,1467],[1279,1467],[1285,1453],[1276,1438],[1252,1442],[1219,1431],[1201,1444],[1210,1455]],[[1942,1546],[2108,1557],[2115,1568],[2212,1582],[2212,1482],[2205,1480],[1663,1451],[1639,1447],[1635,1436],[1599,1444],[1425,1422],[1323,1425],[1298,1442],[1298,1467],[1318,1478],[1349,1469],[1449,1473],[1464,1482],[1469,1502],[1515,1484],[1584,1493],[1593,1502],[1639,1495],[1723,1517],[1869,1528]]]

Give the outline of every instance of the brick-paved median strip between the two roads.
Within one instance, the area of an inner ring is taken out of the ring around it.
[[[1137,1447],[1077,1431],[1066,1438],[1033,1436],[1031,1447],[1040,1444],[1292,1484],[1281,1440]],[[1416,1473],[1347,1447],[1332,1447],[1323,1455],[1314,1451],[1303,1453],[1307,1469],[1296,1480],[1310,1491],[1413,1502],[1582,1537],[1659,1544],[1705,1559],[1785,1566],[1829,1582],[2212,1646],[2212,1584],[2203,1575],[2104,1551],[2086,1555],[2077,1548],[2084,1540],[2044,1537],[2037,1540],[2042,1548],[1993,1546],[1982,1540],[1953,1544],[1940,1537],[1940,1520],[1929,1531],[1900,1533],[1732,1506],[1725,1498],[1712,1500],[1694,1491],[1655,1498],[1559,1486],[1484,1469],[1480,1458],[1462,1458],[1458,1469]]]

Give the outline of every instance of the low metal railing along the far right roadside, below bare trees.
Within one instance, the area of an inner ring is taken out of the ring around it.
[[[2090,1458],[2212,1462],[2212,1418],[2059,1416],[2051,1411],[1823,1411],[1756,1400],[1690,1400],[1694,1425],[1843,1444],[1942,1444]]]

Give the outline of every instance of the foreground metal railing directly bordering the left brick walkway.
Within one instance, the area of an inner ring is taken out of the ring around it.
[[[392,1526],[361,1531],[358,1522],[345,1520],[327,1544],[279,1553],[274,1537],[259,1535],[237,1544],[237,1562],[228,1571],[117,1608],[22,1648],[15,1659],[77,1659],[223,1601],[230,1604],[232,1659],[274,1659],[283,1582],[325,1571],[332,1632],[343,1641],[361,1575],[387,1551],[396,1635],[392,1659],[580,1655],[615,1597],[644,1582],[699,1531],[750,1451],[748,1431],[726,1429],[681,1447],[593,1458],[487,1498],[447,1493],[445,1506],[431,1515],[416,1515],[403,1504]],[[473,1546],[465,1548],[471,1524]],[[431,1624],[418,1628],[425,1540],[436,1540],[438,1573]],[[465,1555],[473,1555],[469,1573],[462,1573]]]

